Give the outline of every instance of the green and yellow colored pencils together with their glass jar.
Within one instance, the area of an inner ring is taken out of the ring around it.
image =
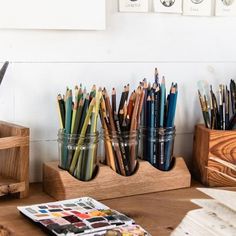
[[[82,180],[92,178],[96,165],[96,145],[98,142],[97,119],[102,90],[92,87],[75,87],[73,101],[72,90],[67,88],[66,95],[57,96],[61,127],[61,167]]]

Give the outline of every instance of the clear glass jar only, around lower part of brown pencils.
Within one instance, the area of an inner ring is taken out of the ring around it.
[[[132,175],[137,168],[139,131],[102,132],[105,161],[123,176]]]

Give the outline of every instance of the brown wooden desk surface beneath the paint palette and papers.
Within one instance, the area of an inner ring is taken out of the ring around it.
[[[191,188],[160,193],[144,194],[102,201],[144,227],[152,236],[169,235],[181,222],[185,214],[198,208],[189,200],[207,198],[196,190],[200,185],[194,182]],[[41,184],[30,185],[30,195],[25,199],[0,198],[0,224],[13,231],[14,235],[45,235],[44,232],[22,216],[16,206],[55,201],[42,191]]]

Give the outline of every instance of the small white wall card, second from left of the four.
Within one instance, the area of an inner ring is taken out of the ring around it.
[[[182,13],[182,0],[154,0],[154,11],[160,13]]]

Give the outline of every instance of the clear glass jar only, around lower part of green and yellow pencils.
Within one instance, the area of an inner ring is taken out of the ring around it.
[[[99,133],[85,136],[58,131],[59,167],[79,180],[91,180],[97,167]]]

